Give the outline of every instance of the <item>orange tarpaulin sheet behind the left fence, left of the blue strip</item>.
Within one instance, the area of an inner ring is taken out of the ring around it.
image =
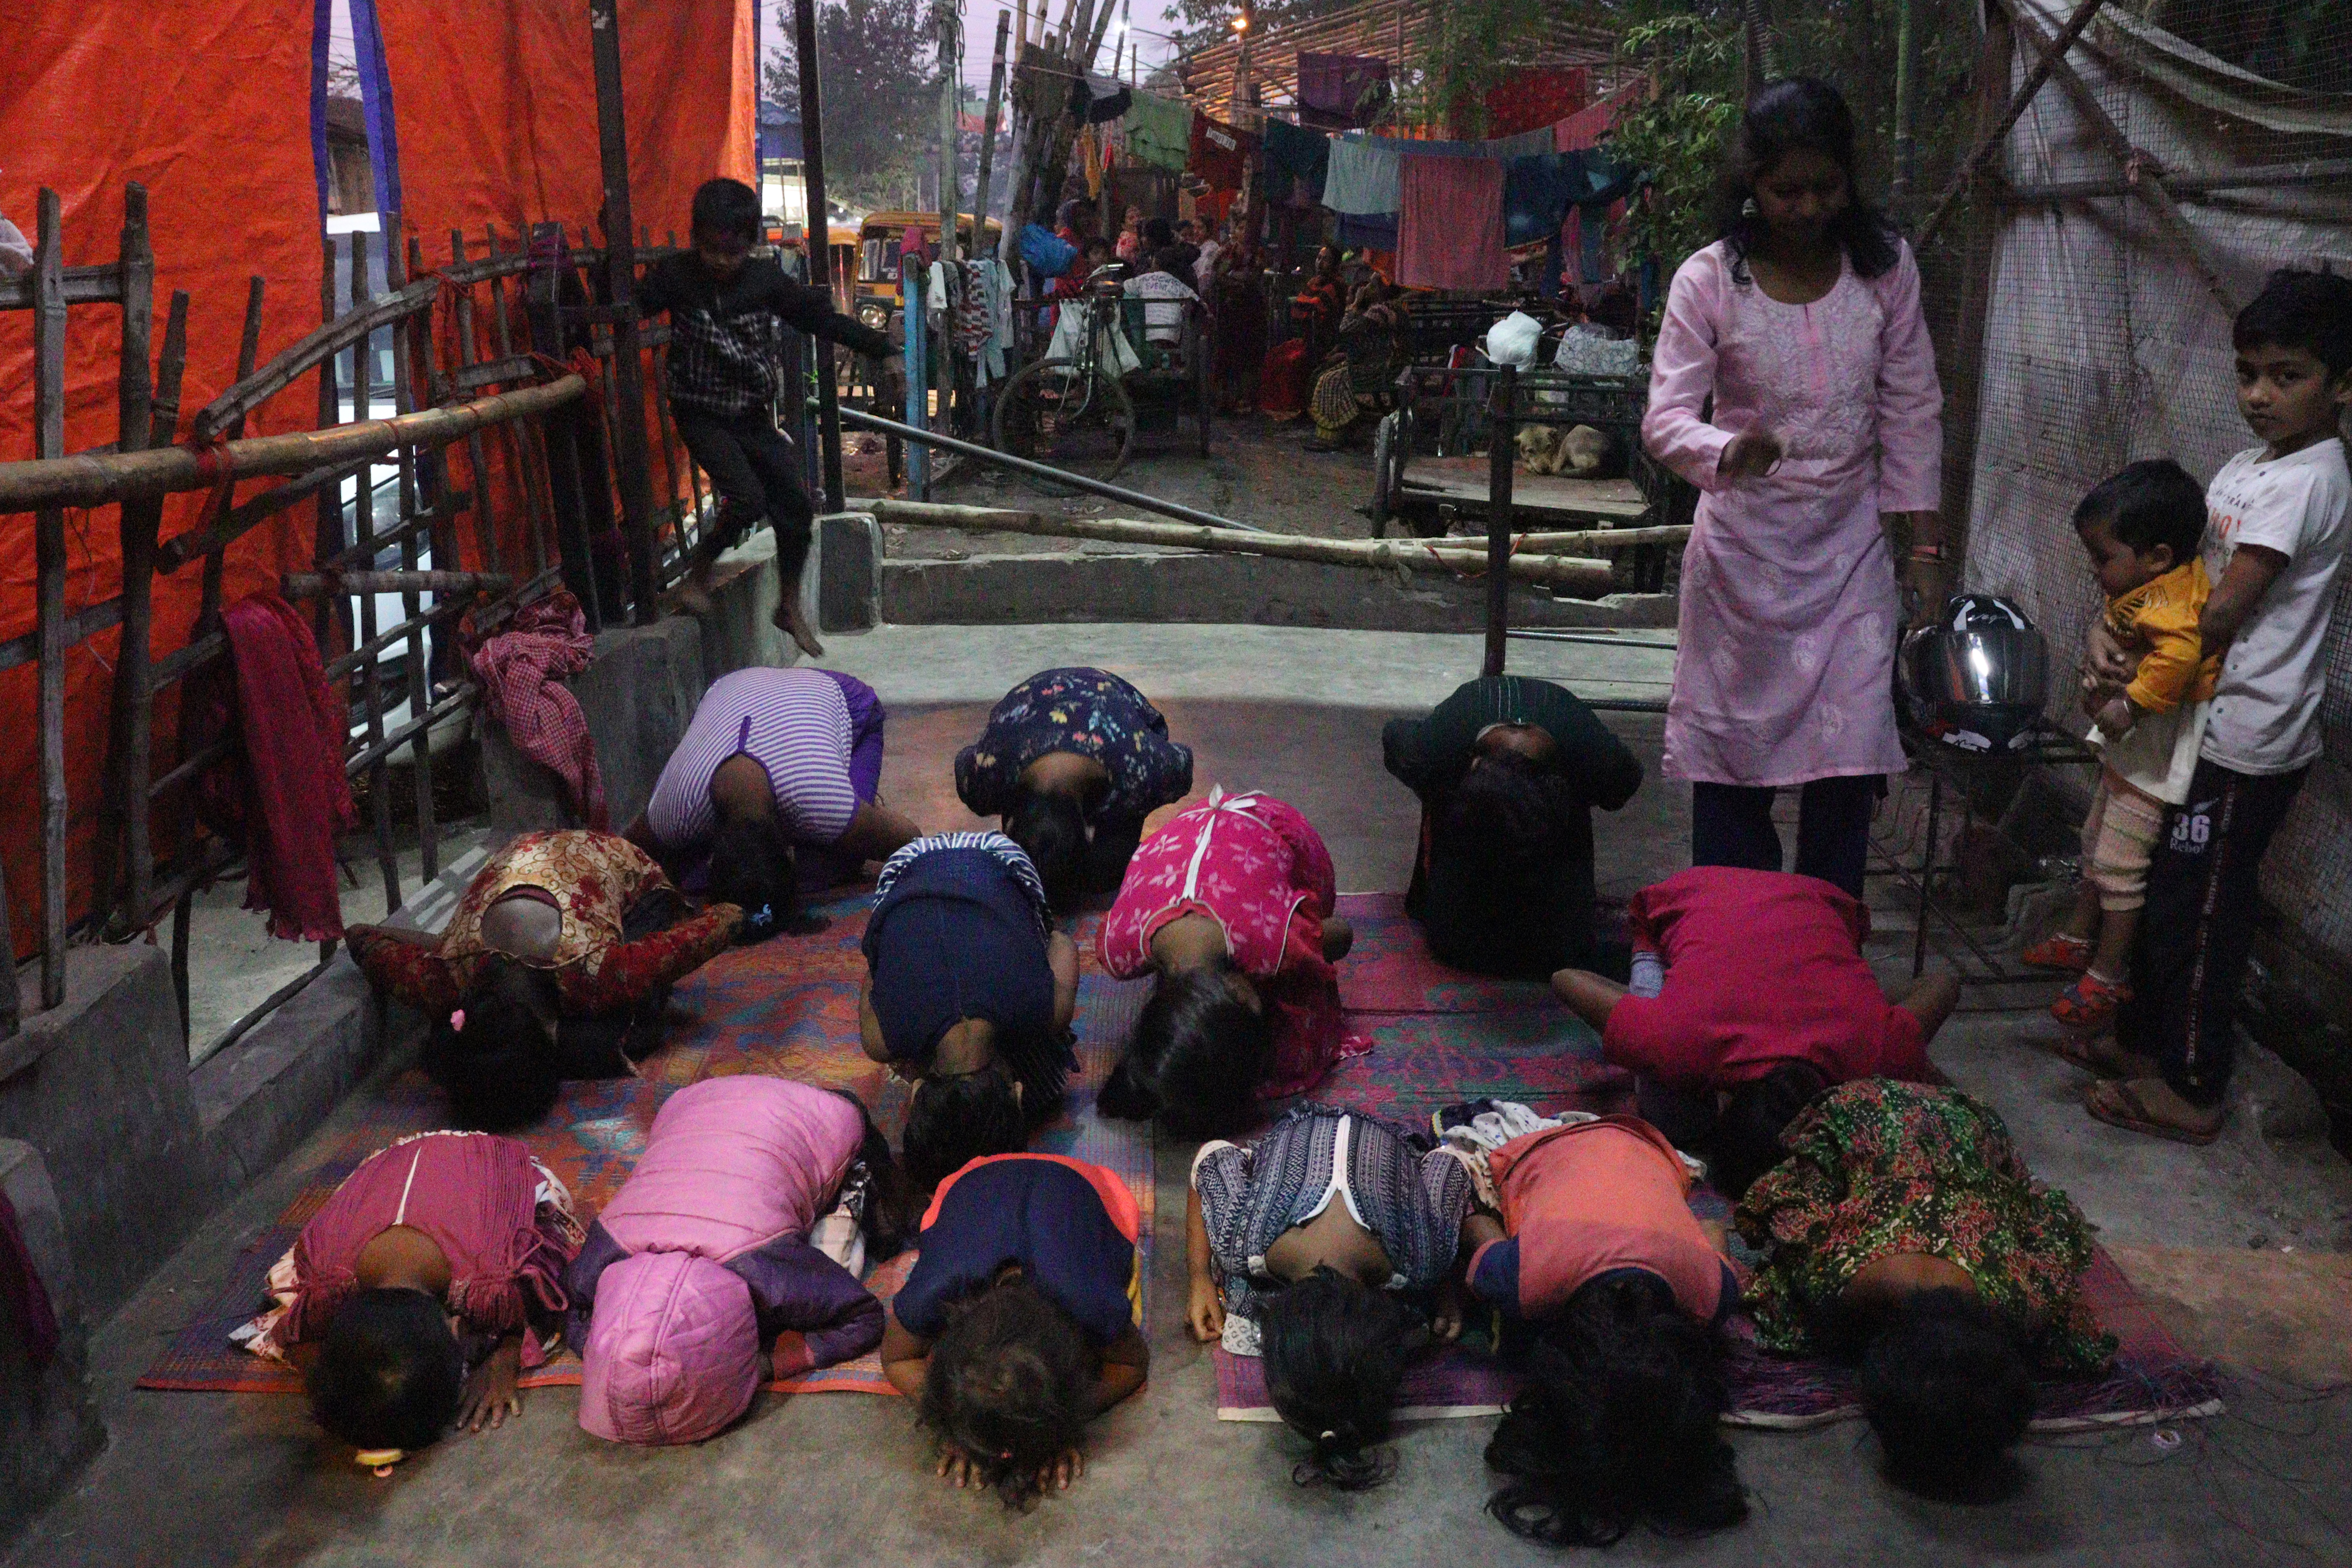
[[[310,0],[78,0],[0,5],[0,212],[35,237],[38,193],[64,202],[66,263],[118,254],[122,186],[148,188],[155,242],[155,350],[172,289],[188,292],[193,414],[238,371],[245,289],[268,277],[261,355],[318,327],[320,228],[310,158]],[[122,346],[115,306],[75,306],[66,327],[66,449],[113,442]],[[33,313],[0,310],[0,461],[33,456]],[[254,433],[315,423],[318,383],[301,381],[254,418]],[[245,494],[252,494],[247,487]],[[162,536],[191,527],[200,496],[174,496]],[[301,510],[247,534],[228,552],[226,595],[273,585],[308,562]],[[120,515],[66,512],[68,614],[115,597]],[[200,571],[155,583],[153,651],[188,639]],[[0,517],[0,639],[33,630],[33,517]],[[73,795],[73,914],[89,898],[89,853],[106,759],[106,710],[120,632],[73,649],[66,668],[66,771]],[[33,665],[0,672],[0,835],[16,954],[40,933],[40,785]],[[158,715],[155,759],[169,766],[172,712]],[[169,813],[169,806],[167,806]],[[167,844],[167,818],[158,839]]]

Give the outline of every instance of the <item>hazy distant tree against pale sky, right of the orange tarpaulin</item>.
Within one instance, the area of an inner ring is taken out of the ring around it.
[[[830,0],[816,9],[826,96],[826,197],[915,207],[938,165],[938,12],[927,0]],[[790,28],[767,61],[767,101],[800,113]]]

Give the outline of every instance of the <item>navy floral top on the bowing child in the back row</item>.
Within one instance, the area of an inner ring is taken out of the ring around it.
[[[988,712],[988,729],[955,755],[955,795],[978,816],[1011,811],[1021,771],[1051,752],[1110,769],[1098,818],[1141,823],[1192,792],[1192,748],[1169,741],[1167,717],[1110,670],[1040,670]]]

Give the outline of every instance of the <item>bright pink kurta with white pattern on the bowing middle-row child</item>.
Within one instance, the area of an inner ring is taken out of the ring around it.
[[[1232,966],[1258,983],[1275,1020],[1275,1074],[1258,1086],[1258,1098],[1275,1100],[1371,1051],[1348,1034],[1338,976],[1322,954],[1334,898],[1331,851],[1296,806],[1211,790],[1136,849],[1096,952],[1105,971],[1134,980],[1152,971],[1160,926],[1183,914],[1223,926]]]

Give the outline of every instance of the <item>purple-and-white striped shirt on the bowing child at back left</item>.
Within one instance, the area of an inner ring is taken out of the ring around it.
[[[849,703],[823,670],[736,670],[710,682],[670,752],[644,820],[670,849],[710,837],[710,778],[753,757],[776,790],[776,818],[802,844],[833,844],[858,811],[849,783]]]

